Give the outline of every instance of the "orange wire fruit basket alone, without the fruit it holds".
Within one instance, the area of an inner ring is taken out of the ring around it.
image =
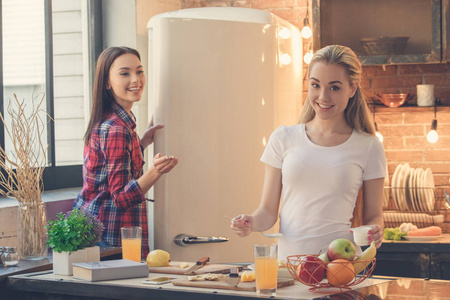
[[[355,264],[364,264],[365,268],[363,271],[361,271],[359,274],[354,274],[353,279],[344,285],[337,285],[333,286],[328,283],[328,280],[324,278],[322,281],[315,281],[313,278],[311,278],[310,282],[304,281],[301,277],[298,276],[297,269],[300,263],[302,262],[302,259],[306,256],[315,256],[318,257],[318,255],[291,255],[286,258],[286,267],[291,274],[291,276],[297,280],[298,282],[307,285],[310,287],[311,292],[325,292],[329,293],[331,290],[338,290],[341,292],[349,291],[351,290],[351,286],[357,285],[361,282],[363,282],[367,277],[369,277],[373,270],[375,269],[376,259],[373,260],[361,260],[361,261],[350,261],[353,265]],[[315,263],[315,262],[310,262]],[[324,264],[321,261],[316,262],[317,264]],[[347,262],[346,262],[347,263]],[[312,275],[312,274],[311,274]]]

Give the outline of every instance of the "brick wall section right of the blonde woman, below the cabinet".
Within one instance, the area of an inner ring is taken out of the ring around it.
[[[437,107],[437,132],[435,144],[426,135],[434,119],[434,107],[417,107],[416,85],[434,84]],[[376,102],[376,93],[409,93],[412,100],[398,108],[376,106],[375,121],[384,137],[389,178],[398,164],[408,162],[412,168],[430,168],[436,184],[436,211],[445,215],[444,232],[450,232],[450,213],[444,206],[443,189],[450,192],[450,68],[449,64],[411,64],[398,66],[367,66],[363,69],[362,87],[370,102]],[[390,208],[395,206],[390,204]]]

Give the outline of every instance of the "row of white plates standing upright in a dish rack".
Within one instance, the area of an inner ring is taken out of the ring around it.
[[[399,164],[392,176],[392,198],[403,211],[434,210],[434,179],[430,168],[411,168]]]

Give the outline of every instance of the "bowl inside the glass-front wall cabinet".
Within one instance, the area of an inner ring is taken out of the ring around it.
[[[405,51],[409,37],[388,37],[361,39],[367,55],[392,55],[402,54]]]

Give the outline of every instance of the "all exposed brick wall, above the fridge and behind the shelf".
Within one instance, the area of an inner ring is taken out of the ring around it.
[[[234,6],[269,11],[301,29],[306,15],[306,0],[182,0],[182,8],[207,6]],[[309,2],[309,5],[311,3]],[[310,10],[311,12],[311,10]],[[311,14],[310,14],[311,17]],[[310,42],[305,41],[304,44]],[[304,49],[305,50],[305,49]],[[304,66],[306,74],[306,65]],[[307,82],[304,81],[306,98]],[[430,144],[426,134],[434,118],[434,108],[404,106],[376,107],[376,122],[384,136],[384,147],[388,161],[389,178],[400,163],[408,162],[413,168],[431,168],[436,186],[442,192],[450,192],[450,68],[449,64],[411,64],[398,66],[367,66],[363,68],[362,88],[368,99],[373,101],[376,93],[410,93],[416,95],[417,84],[434,84],[435,96],[443,105],[438,107],[439,141]],[[442,195],[438,195],[442,201]],[[442,203],[437,206],[442,208]],[[450,232],[450,213],[446,215],[444,231]]]

